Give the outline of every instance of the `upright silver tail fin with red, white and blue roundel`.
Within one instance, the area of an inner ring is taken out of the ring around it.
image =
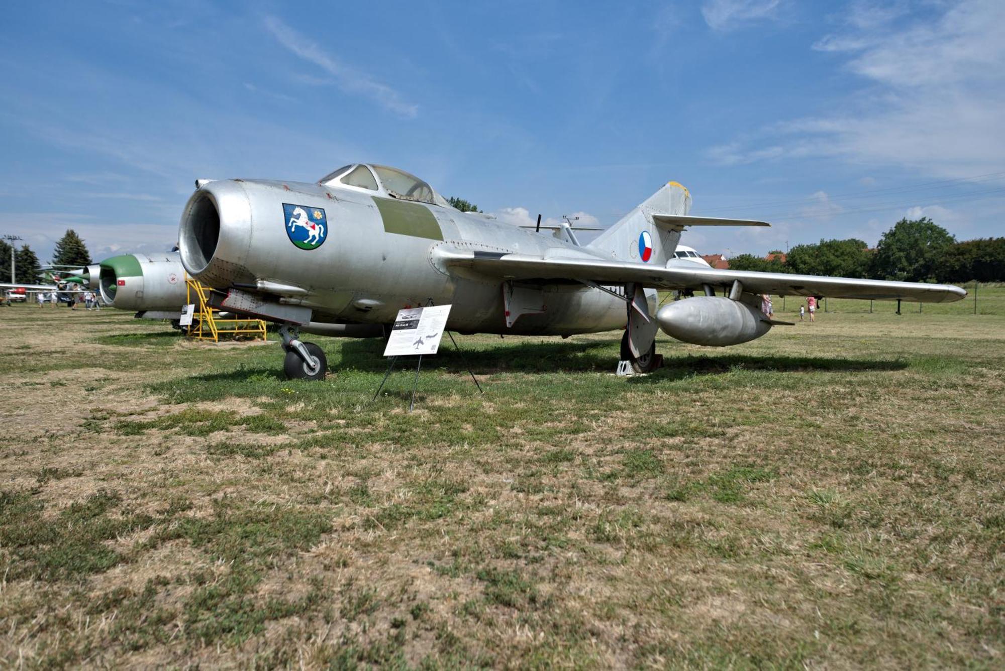
[[[673,258],[680,232],[657,225],[652,215],[686,215],[688,210],[687,189],[676,182],[667,182],[587,247],[619,261],[666,265]]]

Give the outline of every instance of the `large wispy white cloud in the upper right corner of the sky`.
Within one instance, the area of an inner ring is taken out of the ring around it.
[[[853,15],[845,33],[813,48],[844,56],[868,84],[842,101],[843,114],[797,119],[714,147],[722,165],[834,157],[945,177],[1001,170],[1005,147],[1005,3],[961,0],[940,16],[890,25]],[[863,27],[864,26],[864,27]],[[767,146],[758,146],[767,145]]]

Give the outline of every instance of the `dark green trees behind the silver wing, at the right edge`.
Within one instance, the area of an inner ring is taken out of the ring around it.
[[[906,282],[1005,281],[1005,238],[958,242],[928,217],[901,219],[883,233],[875,249],[864,241],[820,240],[796,245],[783,256],[739,254],[729,259],[733,270],[794,272]]]

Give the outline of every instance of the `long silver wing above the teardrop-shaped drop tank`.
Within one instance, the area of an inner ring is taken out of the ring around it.
[[[439,260],[452,271],[497,277],[500,280],[572,280],[602,285],[635,282],[651,288],[693,290],[701,290],[705,284],[728,290],[734,281],[740,280],[744,291],[750,293],[921,302],[950,302],[967,295],[964,289],[951,284],[719,270],[699,266],[681,268],[674,265],[667,268],[589,257],[542,258],[526,254],[458,251],[440,252]]]

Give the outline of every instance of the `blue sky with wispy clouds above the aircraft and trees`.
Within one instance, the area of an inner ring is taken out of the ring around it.
[[[520,222],[668,180],[701,252],[1002,235],[1005,2],[18,3],[0,234],[164,251],[196,178],[398,166]]]

